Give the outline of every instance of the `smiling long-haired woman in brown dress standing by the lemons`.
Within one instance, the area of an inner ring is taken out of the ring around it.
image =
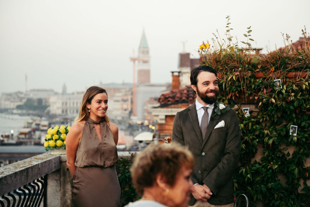
[[[110,122],[107,109],[107,92],[97,86],[88,88],[80,114],[66,137],[75,207],[119,206],[121,189],[114,166],[118,159],[118,128]]]

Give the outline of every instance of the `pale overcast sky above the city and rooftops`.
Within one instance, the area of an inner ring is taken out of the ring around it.
[[[85,91],[102,83],[132,83],[133,50],[143,27],[150,48],[151,82],[171,82],[178,54],[198,57],[202,41],[219,30],[226,16],[239,41],[251,26],[253,47],[283,47],[310,26],[310,1],[199,0],[0,0],[0,92],[53,89]],[[310,32],[310,28],[308,29]]]

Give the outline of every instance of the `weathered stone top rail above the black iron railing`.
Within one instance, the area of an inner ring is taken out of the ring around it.
[[[60,156],[46,152],[0,168],[0,195],[60,169]]]

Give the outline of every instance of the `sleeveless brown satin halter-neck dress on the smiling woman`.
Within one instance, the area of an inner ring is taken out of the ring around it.
[[[102,142],[94,124],[100,124]],[[114,164],[117,162],[114,136],[105,122],[88,118],[75,160],[72,198],[75,207],[118,207],[121,188]]]

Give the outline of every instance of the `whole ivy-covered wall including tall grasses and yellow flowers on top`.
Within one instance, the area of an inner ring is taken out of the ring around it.
[[[219,102],[235,108],[239,118],[235,196],[246,194],[250,206],[310,206],[309,34],[302,30],[305,45],[299,50],[286,35],[288,47],[260,55],[249,43],[251,27],[243,47],[233,43],[227,18],[227,40],[215,35],[198,52],[202,64],[219,74]],[[247,117],[245,105],[252,109]],[[295,136],[290,125],[297,126]]]

